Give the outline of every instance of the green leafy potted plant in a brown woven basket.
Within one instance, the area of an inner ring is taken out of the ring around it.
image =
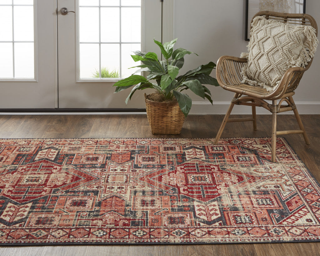
[[[162,44],[154,40],[160,47],[164,60],[160,60],[154,52],[134,51],[135,55],[131,55],[132,59],[141,61],[142,65],[132,68],[140,69],[113,85],[116,86],[116,92],[135,85],[125,100],[126,104],[137,90],[147,88],[156,90],[155,93],[145,94],[148,122],[153,134],[180,133],[184,118],[188,115],[192,105],[191,98],[182,91],[189,89],[201,98],[207,98],[212,104],[211,92],[203,84],[219,86],[217,79],[210,76],[212,69],[216,66],[213,62],[178,76],[184,64],[184,56],[193,52],[183,48],[173,51],[176,41],[177,39],[174,39]],[[142,71],[149,72],[148,76],[135,75]],[[155,80],[155,83],[150,80]]]

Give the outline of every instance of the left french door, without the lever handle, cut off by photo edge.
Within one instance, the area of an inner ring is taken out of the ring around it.
[[[0,108],[57,107],[56,3],[0,1]]]

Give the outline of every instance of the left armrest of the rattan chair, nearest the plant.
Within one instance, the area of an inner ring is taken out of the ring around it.
[[[220,86],[240,84],[242,67],[248,60],[234,56],[221,56],[217,61],[216,77]]]

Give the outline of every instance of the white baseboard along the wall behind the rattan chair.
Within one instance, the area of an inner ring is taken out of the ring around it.
[[[296,106],[299,114],[320,114],[320,101],[296,101]],[[216,101],[213,106],[210,102],[193,101],[190,114],[192,115],[224,115],[226,114],[230,101]],[[256,108],[257,114],[270,114],[265,108]],[[231,114],[251,114],[250,106],[235,105]],[[284,112],[281,114],[293,114],[292,111]]]

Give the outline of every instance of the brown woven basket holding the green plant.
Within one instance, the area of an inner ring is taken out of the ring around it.
[[[184,122],[184,115],[178,102],[156,102],[146,100],[149,126],[152,134],[179,134]]]

